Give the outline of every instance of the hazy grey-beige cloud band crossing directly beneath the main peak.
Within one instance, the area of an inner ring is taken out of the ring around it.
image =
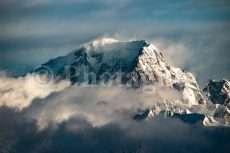
[[[71,118],[83,119],[93,127],[110,123],[126,126],[138,110],[157,105],[167,109],[170,104],[166,104],[164,98],[181,99],[177,91],[157,86],[154,88],[154,92],[146,92],[143,88],[73,86],[45,99],[35,100],[25,112],[29,120],[36,121],[39,130],[49,126],[57,128]],[[177,105],[187,108],[183,103]]]

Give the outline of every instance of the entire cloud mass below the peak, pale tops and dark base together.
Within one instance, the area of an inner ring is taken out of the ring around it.
[[[162,98],[181,98],[168,88],[70,87],[66,82],[36,86],[32,79],[1,77],[2,153],[201,153],[223,152],[230,145],[229,128],[189,125],[161,115],[132,119],[138,111],[162,104]],[[19,98],[22,94],[27,96]]]

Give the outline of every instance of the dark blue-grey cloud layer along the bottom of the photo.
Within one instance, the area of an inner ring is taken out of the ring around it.
[[[126,127],[117,123],[93,127],[76,116],[55,131],[48,128],[42,132],[22,114],[6,108],[0,108],[0,120],[0,151],[5,153],[222,153],[230,145],[229,129],[191,126],[162,117],[133,121]]]

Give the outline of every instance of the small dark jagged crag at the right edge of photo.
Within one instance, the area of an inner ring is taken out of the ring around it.
[[[203,91],[214,104],[230,105],[230,83],[227,80],[210,79]]]

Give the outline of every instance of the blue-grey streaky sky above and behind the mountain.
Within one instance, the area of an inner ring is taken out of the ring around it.
[[[2,0],[0,69],[21,75],[100,37],[141,39],[197,76],[230,79],[228,0]]]

